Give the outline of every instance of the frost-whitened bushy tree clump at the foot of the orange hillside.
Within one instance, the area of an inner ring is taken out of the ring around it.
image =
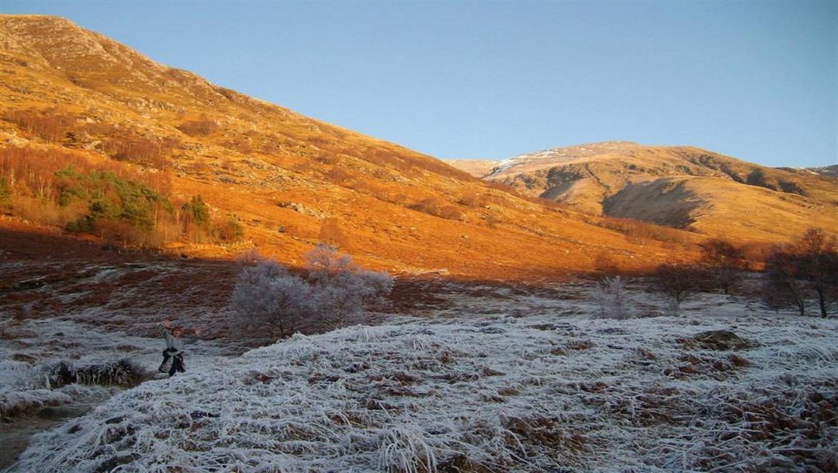
[[[360,320],[393,288],[385,273],[367,271],[334,247],[307,255],[308,273],[291,273],[280,263],[248,253],[230,304],[235,328],[272,337],[331,330]]]

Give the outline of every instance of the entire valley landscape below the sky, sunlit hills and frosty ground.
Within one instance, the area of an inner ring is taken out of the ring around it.
[[[0,470],[838,469],[835,169],[445,162],[41,15],[0,91]],[[318,247],[385,304],[249,335],[248,261],[282,294]]]

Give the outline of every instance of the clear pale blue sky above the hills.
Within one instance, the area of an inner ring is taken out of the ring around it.
[[[153,60],[442,159],[606,140],[838,164],[838,0],[37,1]]]

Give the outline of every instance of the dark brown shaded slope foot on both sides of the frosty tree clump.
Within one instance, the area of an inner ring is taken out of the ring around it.
[[[127,251],[20,223],[0,224],[0,312],[13,320],[58,316],[143,336],[158,336],[165,322],[195,339],[247,342],[229,329],[230,295],[241,271],[233,257]],[[504,301],[574,299],[573,286],[579,284],[587,283],[400,275],[388,306],[368,323],[385,320],[386,314],[456,317],[486,314]],[[516,307],[525,311],[530,305]]]

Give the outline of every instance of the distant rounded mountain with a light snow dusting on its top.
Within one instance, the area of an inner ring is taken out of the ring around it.
[[[701,148],[592,143],[466,167],[490,182],[597,216],[741,242],[783,242],[810,226],[838,232],[828,169],[773,169]]]

